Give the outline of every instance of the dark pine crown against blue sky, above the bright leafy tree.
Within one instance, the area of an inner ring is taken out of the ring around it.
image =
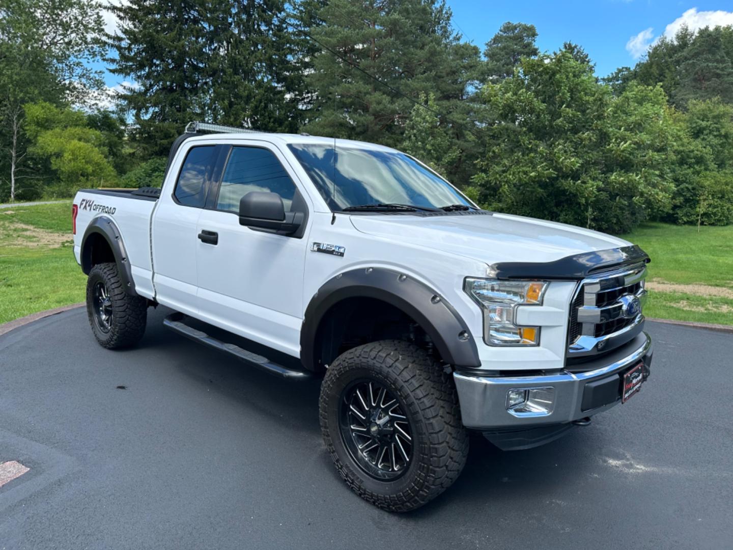
[[[539,54],[534,41],[537,40],[537,29],[527,23],[507,21],[486,43],[486,76],[492,81],[509,78],[523,57],[535,57]]]

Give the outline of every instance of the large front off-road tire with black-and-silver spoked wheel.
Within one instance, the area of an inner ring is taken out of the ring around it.
[[[452,375],[400,340],[336,358],[321,386],[320,425],[347,485],[391,512],[414,510],[441,494],[468,455]]]

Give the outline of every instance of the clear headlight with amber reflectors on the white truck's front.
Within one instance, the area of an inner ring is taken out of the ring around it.
[[[466,277],[464,290],[484,311],[488,345],[539,345],[539,326],[517,326],[517,306],[541,305],[547,282]]]

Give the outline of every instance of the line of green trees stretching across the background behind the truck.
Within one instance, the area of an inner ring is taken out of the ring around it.
[[[733,222],[733,29],[606,78],[504,23],[483,48],[437,0],[95,0],[0,8],[0,200],[159,180],[192,120],[397,147],[485,208],[624,232]],[[95,59],[128,84],[110,109]],[[6,100],[7,98],[7,100]]]

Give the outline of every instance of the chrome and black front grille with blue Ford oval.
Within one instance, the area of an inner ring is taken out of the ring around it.
[[[609,337],[621,333],[627,327],[640,323],[641,311],[633,312],[624,300],[634,296],[644,297],[644,264],[615,268],[605,274],[597,274],[579,285],[570,307],[568,326],[568,356],[600,353]],[[628,296],[627,298],[623,298]],[[582,317],[581,317],[582,315]],[[634,334],[630,334],[633,337]],[[620,345],[616,338],[613,347]],[[602,343],[599,343],[602,342]]]

